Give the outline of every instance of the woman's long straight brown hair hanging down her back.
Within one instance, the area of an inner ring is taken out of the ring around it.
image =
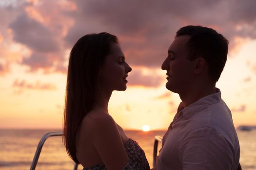
[[[77,132],[82,119],[95,104],[98,71],[106,55],[110,53],[111,43],[118,43],[115,35],[87,34],[78,40],[70,52],[63,115],[63,143],[68,155],[78,164]]]

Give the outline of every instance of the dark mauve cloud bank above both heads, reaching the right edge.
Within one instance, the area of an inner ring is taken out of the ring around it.
[[[77,10],[70,16],[75,24],[65,37],[68,47],[84,34],[110,32],[118,35],[133,66],[160,67],[177,30],[185,25],[212,27],[230,40],[231,48],[237,36],[255,37],[256,33],[254,0],[74,2]]]

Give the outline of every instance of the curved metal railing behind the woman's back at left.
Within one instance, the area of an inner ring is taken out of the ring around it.
[[[49,132],[49,133],[45,134],[44,136],[42,136],[41,140],[39,141],[39,144],[38,144],[38,147],[37,147],[34,159],[32,161],[30,170],[35,170],[36,169],[36,166],[37,166],[37,163],[38,163],[38,159],[39,159],[39,155],[41,153],[41,150],[42,150],[42,147],[43,147],[43,144],[44,144],[45,140],[48,137],[51,137],[51,136],[62,136],[62,135],[63,135],[62,132]],[[77,170],[77,169],[78,169],[78,164],[75,163],[73,170]]]

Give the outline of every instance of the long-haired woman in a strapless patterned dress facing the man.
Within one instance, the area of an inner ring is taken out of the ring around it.
[[[83,170],[149,170],[144,151],[108,113],[113,90],[126,90],[132,68],[115,35],[87,34],[70,53],[64,144]]]

